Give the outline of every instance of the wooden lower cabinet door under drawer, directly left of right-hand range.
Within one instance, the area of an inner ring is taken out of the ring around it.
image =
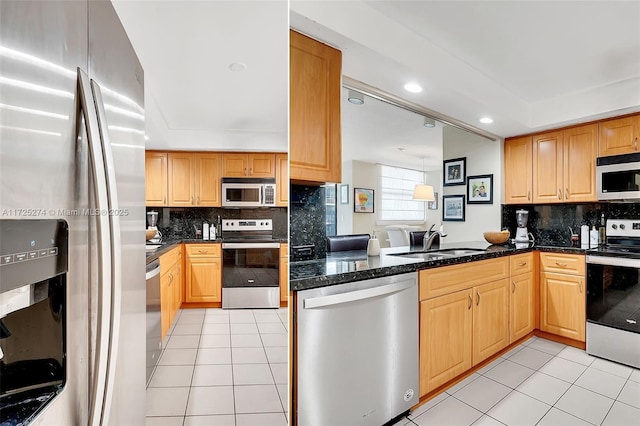
[[[584,277],[540,274],[540,329],[585,341],[586,299]]]

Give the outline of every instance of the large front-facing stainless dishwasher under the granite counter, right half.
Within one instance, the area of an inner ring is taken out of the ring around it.
[[[298,422],[380,426],[419,399],[417,273],[298,292]]]

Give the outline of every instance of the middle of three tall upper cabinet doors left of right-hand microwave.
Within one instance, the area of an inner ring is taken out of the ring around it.
[[[560,203],[564,199],[562,132],[533,137],[533,202]]]

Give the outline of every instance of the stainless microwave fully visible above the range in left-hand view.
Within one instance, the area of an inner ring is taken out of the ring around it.
[[[275,205],[275,179],[222,179],[222,207],[275,207]]]

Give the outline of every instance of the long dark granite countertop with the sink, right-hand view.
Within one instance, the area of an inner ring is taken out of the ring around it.
[[[291,262],[289,264],[289,286],[293,291],[307,290],[371,278],[415,272],[420,269],[493,259],[533,250],[556,253],[585,254],[586,250],[571,246],[514,244],[490,245],[471,241],[442,244],[440,249],[472,248],[485,250],[482,253],[447,257],[425,261],[422,258],[394,256],[394,253],[412,251],[410,247],[390,247],[380,251],[380,256],[367,256],[365,250],[329,253],[325,259]],[[422,251],[414,248],[413,251]],[[434,251],[434,250],[432,250]]]

